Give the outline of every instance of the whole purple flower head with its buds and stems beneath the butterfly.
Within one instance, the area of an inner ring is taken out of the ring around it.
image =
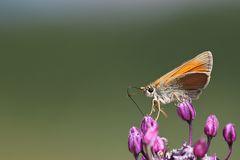
[[[141,160],[218,160],[217,155],[208,156],[207,152],[211,145],[211,140],[218,133],[219,122],[215,115],[208,116],[204,133],[207,137],[199,138],[192,145],[192,121],[196,117],[193,105],[182,102],[177,107],[179,117],[186,121],[189,127],[189,139],[180,148],[168,150],[168,140],[158,134],[158,124],[150,116],[145,116],[140,128],[132,127],[128,135],[128,149],[135,159]],[[224,140],[228,144],[229,152],[225,157],[228,160],[232,153],[232,145],[236,140],[236,128],[232,123],[228,123],[223,129]]]

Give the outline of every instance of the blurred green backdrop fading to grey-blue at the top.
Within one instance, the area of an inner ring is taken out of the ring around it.
[[[194,141],[220,121],[210,154],[227,154],[222,128],[239,123],[240,5],[225,1],[0,2],[0,159],[133,159],[128,130],[142,119],[127,98],[210,50],[212,79],[194,102]],[[151,100],[136,95],[145,113]],[[173,104],[160,117],[170,148],[187,140]],[[239,159],[239,138],[232,159]]]

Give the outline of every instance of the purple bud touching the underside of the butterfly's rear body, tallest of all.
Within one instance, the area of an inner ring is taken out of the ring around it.
[[[189,101],[180,103],[177,107],[178,115],[187,122],[191,122],[196,117],[196,111]]]

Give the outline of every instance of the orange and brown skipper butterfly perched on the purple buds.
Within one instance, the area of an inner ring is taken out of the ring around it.
[[[206,88],[210,81],[212,67],[212,53],[205,51],[149,85],[138,88],[147,97],[152,98],[152,108],[149,115],[152,115],[157,109],[157,120],[160,112],[167,116],[160,107],[161,104],[171,102],[177,104],[185,100],[198,99],[202,89]]]

